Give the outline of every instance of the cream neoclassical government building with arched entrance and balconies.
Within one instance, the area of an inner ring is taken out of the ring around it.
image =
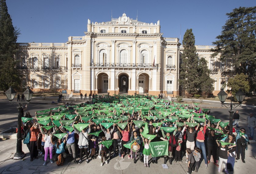
[[[108,22],[91,22],[83,36],[66,43],[17,43],[17,69],[33,91],[66,90],[68,94],[180,94],[178,79],[183,46],[162,37],[160,21],[145,23],[124,13]],[[216,95],[228,73],[214,46],[196,46],[208,61]]]

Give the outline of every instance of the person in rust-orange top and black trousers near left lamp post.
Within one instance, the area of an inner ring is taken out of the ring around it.
[[[38,123],[34,123],[34,125],[30,128],[31,137],[30,137],[30,161],[33,161],[33,158],[38,159],[38,149],[37,149],[37,137],[40,133]]]

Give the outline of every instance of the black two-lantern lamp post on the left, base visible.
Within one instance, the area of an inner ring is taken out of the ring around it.
[[[16,95],[15,90],[12,87],[9,87],[9,89],[7,91],[5,91],[5,95],[7,97],[7,99],[9,100],[9,102],[11,104],[14,104],[17,106],[18,109],[18,132],[17,132],[17,146],[16,146],[16,153],[13,156],[13,159],[22,159],[24,158],[25,154],[22,151],[22,138],[21,138],[21,109],[22,109],[22,105],[23,104],[29,104],[29,101],[31,100],[34,92],[32,92],[32,90],[29,89],[29,87],[27,87],[27,89],[23,92],[24,97],[26,99],[27,102],[15,102],[12,101]]]

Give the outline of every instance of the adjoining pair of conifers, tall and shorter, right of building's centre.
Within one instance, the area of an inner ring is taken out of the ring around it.
[[[197,56],[192,29],[187,29],[182,44],[184,50],[181,56],[180,86],[193,95],[208,95],[212,93],[214,80],[209,77],[210,70],[208,69],[207,61],[204,58],[199,60]]]

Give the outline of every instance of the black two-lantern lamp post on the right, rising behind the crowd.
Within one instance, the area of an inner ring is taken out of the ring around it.
[[[228,94],[223,90],[223,88],[220,89],[220,92],[218,93],[219,101],[222,103],[222,107],[225,106],[226,108],[230,108],[229,110],[229,131],[230,133],[233,132],[233,108],[236,108],[237,106],[241,107],[241,103],[244,101],[245,94],[244,92],[239,89],[235,96],[238,101],[238,103],[232,103],[232,95],[231,95],[231,103],[224,103],[226,101]],[[226,106],[227,105],[227,106]]]

